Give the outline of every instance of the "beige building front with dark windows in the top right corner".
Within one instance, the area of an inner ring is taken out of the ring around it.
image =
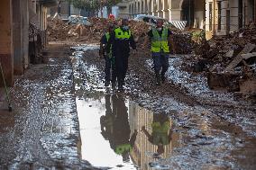
[[[256,0],[206,0],[206,38],[256,23]]]

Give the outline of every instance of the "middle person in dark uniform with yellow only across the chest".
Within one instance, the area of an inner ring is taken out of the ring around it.
[[[122,25],[111,33],[107,45],[107,51],[112,47],[119,91],[123,91],[124,78],[128,69],[130,46],[136,49],[133,33],[128,26],[128,20],[123,19]],[[115,88],[115,84],[113,84],[113,88]]]

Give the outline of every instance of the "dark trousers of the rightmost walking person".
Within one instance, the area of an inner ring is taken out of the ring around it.
[[[169,67],[169,54],[164,52],[152,52],[152,58],[156,76],[159,74],[164,76]]]

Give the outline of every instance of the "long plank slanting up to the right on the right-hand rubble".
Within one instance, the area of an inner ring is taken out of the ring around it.
[[[231,71],[234,67],[236,67],[242,61],[242,54],[246,54],[251,52],[252,49],[256,47],[255,44],[248,43],[242,49],[242,51],[231,61],[231,63],[225,67],[224,71]]]

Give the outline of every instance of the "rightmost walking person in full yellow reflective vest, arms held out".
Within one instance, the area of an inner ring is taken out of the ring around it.
[[[165,73],[169,67],[169,53],[171,49],[175,52],[171,34],[172,32],[169,31],[168,28],[163,27],[162,20],[158,20],[156,28],[153,27],[151,28],[151,31],[148,32],[149,39],[151,40],[151,52],[156,76],[156,85],[165,82]],[[144,41],[142,49],[144,49],[149,39]]]

